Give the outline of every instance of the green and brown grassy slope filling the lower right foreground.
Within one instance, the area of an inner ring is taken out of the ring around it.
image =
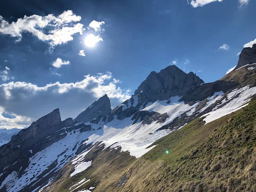
[[[195,119],[154,144],[126,170],[125,185],[116,185],[120,178],[94,192],[256,191],[256,100],[207,125]]]

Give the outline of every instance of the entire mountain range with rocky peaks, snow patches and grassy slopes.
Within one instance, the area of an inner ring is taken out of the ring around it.
[[[256,64],[241,55],[212,83],[173,65],[113,110],[105,95],[32,122],[0,147],[0,192],[256,190]]]

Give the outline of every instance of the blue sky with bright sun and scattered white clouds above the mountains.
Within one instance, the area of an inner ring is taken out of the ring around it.
[[[0,1],[0,128],[100,96],[112,108],[151,71],[175,64],[205,82],[256,43],[255,0]]]

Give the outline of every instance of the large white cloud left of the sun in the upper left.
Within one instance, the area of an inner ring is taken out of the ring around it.
[[[41,41],[50,44],[51,47],[73,41],[73,35],[83,34],[83,25],[76,23],[81,20],[81,16],[75,15],[71,10],[64,11],[55,17],[52,14],[47,16],[31,15],[17,19],[16,22],[9,23],[0,16],[0,33],[11,35],[21,41],[25,32],[35,35]]]

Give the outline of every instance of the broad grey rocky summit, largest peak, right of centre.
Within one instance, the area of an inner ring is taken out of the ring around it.
[[[183,96],[183,94],[204,83],[202,79],[190,72],[186,74],[175,65],[166,67],[159,73],[151,72],[134,94],[138,94],[138,105],[148,102],[169,99],[171,96]]]

